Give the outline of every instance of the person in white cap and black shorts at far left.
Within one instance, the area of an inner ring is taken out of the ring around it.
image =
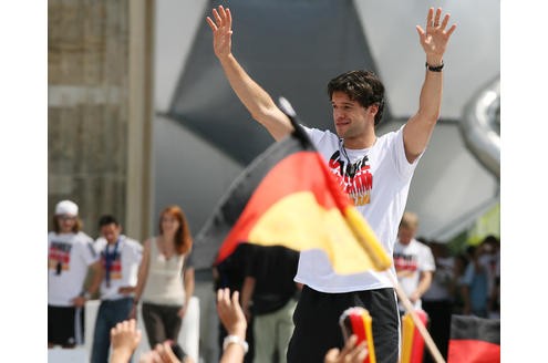
[[[55,206],[53,231],[48,234],[48,348],[84,343],[85,301],[100,283],[101,265],[93,239],[82,231],[79,207],[62,200]]]

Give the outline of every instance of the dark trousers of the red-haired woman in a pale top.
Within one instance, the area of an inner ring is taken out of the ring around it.
[[[177,314],[182,307],[143,302],[141,313],[151,349],[166,340],[178,342],[183,319]]]

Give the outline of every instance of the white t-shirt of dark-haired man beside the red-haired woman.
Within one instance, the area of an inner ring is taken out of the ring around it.
[[[95,241],[96,248],[101,256],[103,267],[105,266],[105,250],[114,253],[114,245],[107,245],[104,238],[99,238]],[[136,287],[137,272],[143,259],[143,246],[134,239],[124,235],[120,236],[120,245],[116,249],[116,256],[111,266],[110,286],[106,283],[106,278],[101,282],[101,300],[116,300],[126,298],[127,295],[118,293],[122,287]]]

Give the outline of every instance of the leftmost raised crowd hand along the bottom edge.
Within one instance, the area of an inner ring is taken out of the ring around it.
[[[138,346],[142,332],[135,319],[124,320],[111,329],[111,363],[127,362]]]

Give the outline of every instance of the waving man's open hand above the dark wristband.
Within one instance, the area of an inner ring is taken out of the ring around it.
[[[449,41],[451,34],[456,29],[456,24],[453,24],[449,29],[447,23],[449,22],[449,14],[443,17],[442,22],[442,9],[437,8],[434,14],[434,8],[428,9],[428,15],[426,17],[426,30],[421,25],[416,25],[416,31],[421,39],[421,45],[424,49],[426,55],[433,55],[441,58],[445,53],[447,42]]]

